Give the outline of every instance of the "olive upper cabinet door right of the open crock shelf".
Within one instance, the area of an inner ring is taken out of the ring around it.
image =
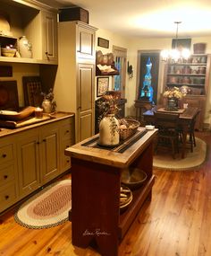
[[[56,13],[42,11],[43,59],[55,62],[58,60],[56,15]]]

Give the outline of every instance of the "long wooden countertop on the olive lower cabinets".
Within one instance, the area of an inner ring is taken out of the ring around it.
[[[61,120],[61,119],[66,119],[68,117],[73,117],[73,116],[74,116],[74,113],[58,111],[58,112],[55,112],[54,114],[50,114],[49,119],[43,119],[43,120],[40,120],[38,123],[33,123],[33,124],[30,124],[30,125],[26,125],[26,126],[21,127],[21,128],[1,128],[0,127],[0,137],[5,137],[5,136],[15,134],[15,133],[21,132],[22,130],[27,130],[27,129],[30,129],[30,128],[37,128],[37,127],[42,126],[44,124],[52,123],[52,122],[55,122],[55,121],[58,121],[58,120]]]

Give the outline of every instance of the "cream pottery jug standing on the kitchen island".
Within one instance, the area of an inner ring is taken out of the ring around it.
[[[114,114],[106,115],[99,124],[99,144],[115,146],[120,143],[119,121]]]

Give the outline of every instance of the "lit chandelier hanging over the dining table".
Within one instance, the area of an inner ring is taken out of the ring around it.
[[[178,26],[181,22],[174,22],[176,24],[176,39],[174,49],[163,49],[161,51],[162,60],[171,60],[172,62],[178,62],[181,59],[188,59],[190,57],[190,49],[182,48],[178,45]]]

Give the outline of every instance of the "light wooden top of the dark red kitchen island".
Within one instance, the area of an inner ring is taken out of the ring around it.
[[[152,143],[156,136],[157,129],[146,130],[146,128],[138,128],[138,131],[145,131],[143,137],[140,137],[135,143],[129,146],[124,152],[114,152],[109,147],[97,148],[91,146],[84,146],[90,140],[97,138],[98,134],[81,141],[80,143],[70,146],[65,149],[65,154],[73,158],[86,160],[89,162],[102,163],[112,165],[119,168],[128,167],[142,151]],[[125,140],[125,144],[130,141],[132,137]]]

